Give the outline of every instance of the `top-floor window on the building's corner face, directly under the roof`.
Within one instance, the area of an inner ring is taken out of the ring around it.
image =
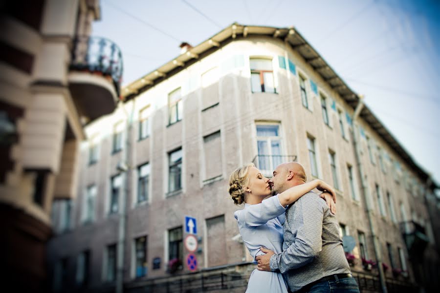
[[[253,93],[275,93],[271,59],[251,58],[251,87]]]

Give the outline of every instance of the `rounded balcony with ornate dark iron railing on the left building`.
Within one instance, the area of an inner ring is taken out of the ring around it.
[[[93,121],[116,107],[122,80],[122,54],[110,40],[77,37],[69,72],[69,89],[79,115]]]

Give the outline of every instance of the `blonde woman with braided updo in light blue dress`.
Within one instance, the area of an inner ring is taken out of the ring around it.
[[[313,180],[264,199],[271,194],[271,186],[269,179],[264,177],[254,164],[245,165],[232,172],[229,178],[229,194],[236,205],[244,203],[244,209],[237,210],[234,217],[255,263],[255,257],[264,254],[260,250],[262,246],[275,253],[283,251],[282,225],[286,206],[314,188],[330,192],[331,195],[326,201],[333,211],[334,206],[330,205],[330,202],[333,202],[334,190],[321,180]],[[255,269],[249,278],[246,292],[286,293],[287,285],[281,273]]]

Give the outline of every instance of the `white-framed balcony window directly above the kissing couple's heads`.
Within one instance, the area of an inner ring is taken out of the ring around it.
[[[282,162],[280,126],[257,125],[258,167],[263,174],[272,174]],[[271,175],[268,175],[271,177]]]

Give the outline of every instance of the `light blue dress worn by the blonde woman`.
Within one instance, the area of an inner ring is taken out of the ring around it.
[[[243,242],[254,259],[264,254],[261,247],[280,253],[283,251],[283,224],[286,209],[278,195],[265,199],[261,204],[244,204],[234,217],[238,222]],[[274,292],[286,293],[287,285],[279,272],[263,272],[255,269],[249,278],[246,293]]]

